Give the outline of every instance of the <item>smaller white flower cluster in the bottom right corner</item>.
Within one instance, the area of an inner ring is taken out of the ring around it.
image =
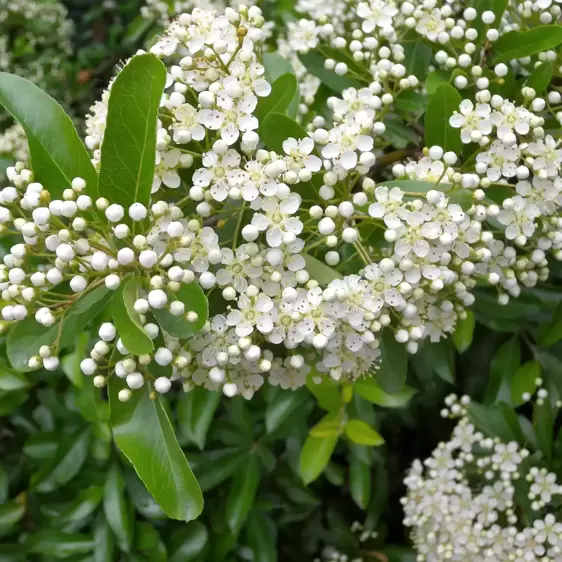
[[[450,441],[415,461],[404,481],[404,524],[418,560],[561,560],[556,475],[535,466],[518,443],[478,432],[466,413],[468,397],[446,403],[446,415],[460,418]],[[534,519],[528,522],[526,500]]]

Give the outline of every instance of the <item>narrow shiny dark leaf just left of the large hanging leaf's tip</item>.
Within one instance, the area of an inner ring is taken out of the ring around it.
[[[125,498],[125,481],[116,462],[111,463],[107,472],[103,511],[119,549],[129,552],[133,542],[133,512]]]

